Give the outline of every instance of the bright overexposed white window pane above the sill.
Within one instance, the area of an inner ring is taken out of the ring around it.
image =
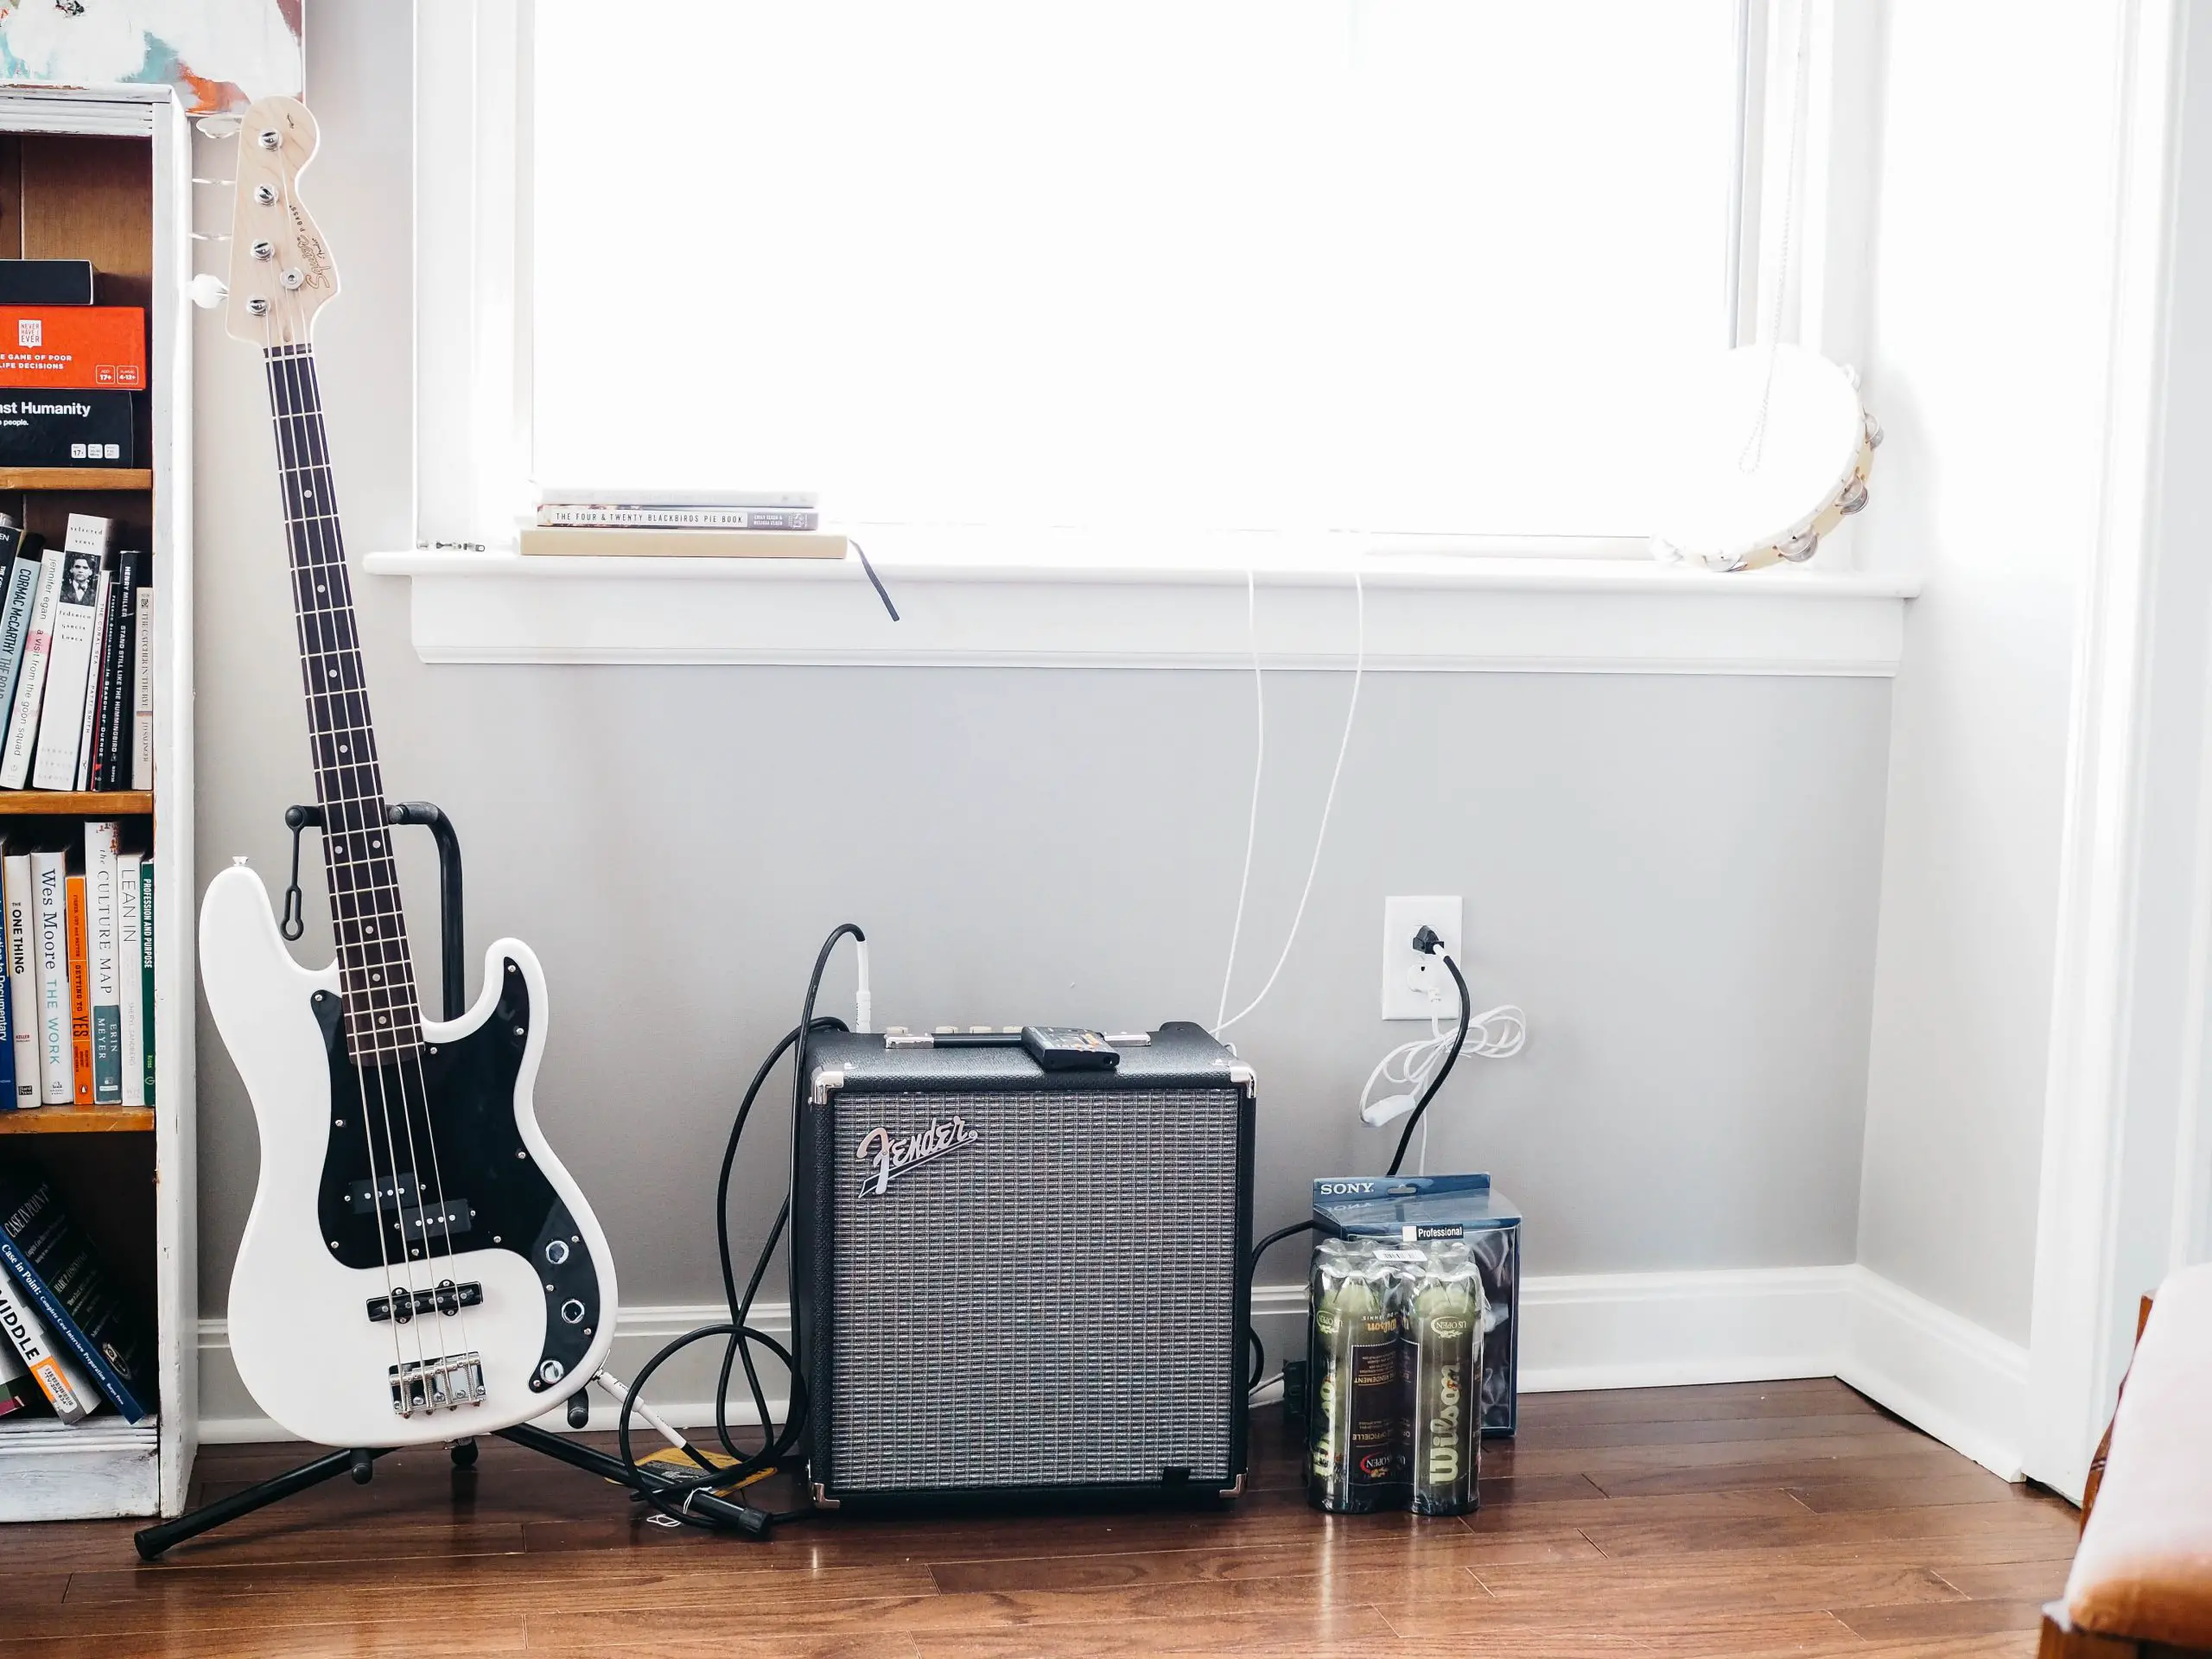
[[[540,482],[1639,535],[1734,0],[540,0]]]

